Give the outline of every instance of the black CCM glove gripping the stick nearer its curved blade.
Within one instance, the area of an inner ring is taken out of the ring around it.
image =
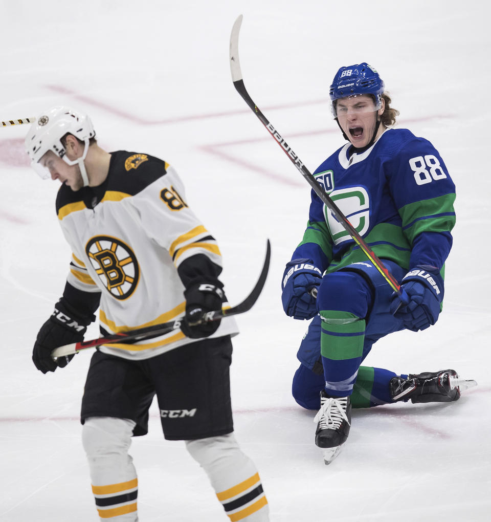
[[[209,337],[217,331],[221,319],[217,321],[203,322],[196,326],[190,326],[197,321],[203,314],[222,309],[224,300],[223,284],[218,280],[213,283],[195,283],[184,292],[186,298],[186,316],[181,325],[184,335],[191,339]]]

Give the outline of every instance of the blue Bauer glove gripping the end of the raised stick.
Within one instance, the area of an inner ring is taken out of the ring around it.
[[[424,330],[438,321],[443,296],[444,282],[438,269],[418,265],[403,277],[401,295],[392,294],[390,313],[402,319],[408,330]]]

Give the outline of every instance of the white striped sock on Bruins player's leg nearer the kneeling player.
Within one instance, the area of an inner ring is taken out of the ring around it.
[[[239,448],[233,433],[186,441],[186,448],[208,474],[231,520],[268,522],[268,501],[256,466]]]

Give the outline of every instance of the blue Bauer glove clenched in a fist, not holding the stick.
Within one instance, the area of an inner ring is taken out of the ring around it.
[[[281,301],[286,315],[294,319],[312,319],[317,314],[312,290],[322,281],[321,271],[311,259],[293,259],[283,273]]]

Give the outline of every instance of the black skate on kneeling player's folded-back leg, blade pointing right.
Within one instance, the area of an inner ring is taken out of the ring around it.
[[[409,374],[407,379],[393,377],[390,394],[394,401],[453,402],[462,390],[477,386],[472,379],[461,379],[455,370]]]

